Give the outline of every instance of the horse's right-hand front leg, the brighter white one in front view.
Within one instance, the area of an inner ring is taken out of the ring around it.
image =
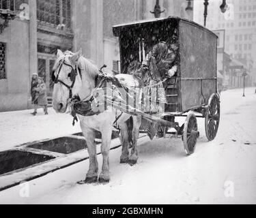
[[[102,172],[100,173],[99,183],[109,183],[110,175],[109,175],[109,150],[111,144],[111,135],[112,135],[112,126],[106,127],[104,126],[104,130],[101,131],[102,135],[102,145],[101,145],[101,153],[102,153]]]

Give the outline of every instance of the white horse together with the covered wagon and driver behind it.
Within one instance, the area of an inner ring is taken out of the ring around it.
[[[182,135],[188,155],[195,151],[199,136],[198,116],[205,118],[208,140],[213,140],[218,131],[220,100],[214,33],[176,17],[117,25],[113,33],[119,37],[122,74],[104,74],[82,56],[81,50],[76,53],[58,50],[53,67],[53,108],[61,113],[70,108],[74,121],[78,114],[87,142],[89,170],[82,183],[109,182],[113,125],[122,136],[120,163],[131,165],[139,158],[140,126],[144,130],[146,126],[156,126],[160,137],[170,127],[174,128],[177,135]],[[181,127],[175,122],[176,116],[186,116]],[[127,121],[131,118],[129,132]],[[141,125],[141,118],[150,121],[150,125]],[[102,134],[99,177],[95,130]]]

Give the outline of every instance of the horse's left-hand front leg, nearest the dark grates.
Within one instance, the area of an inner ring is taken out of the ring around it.
[[[94,142],[95,131],[94,129],[83,127],[83,125],[81,125],[81,129],[83,130],[83,135],[87,143],[87,151],[89,153],[89,170],[86,174],[85,183],[96,183],[98,181],[98,161]]]

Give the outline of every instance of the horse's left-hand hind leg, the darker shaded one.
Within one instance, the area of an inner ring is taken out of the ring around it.
[[[120,163],[129,162],[129,150],[128,150],[128,125],[126,122],[119,123],[121,129],[121,138],[122,138],[122,155],[120,157]]]

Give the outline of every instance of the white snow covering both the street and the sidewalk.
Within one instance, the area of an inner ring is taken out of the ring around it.
[[[255,88],[221,94],[221,124],[208,142],[204,121],[195,153],[184,155],[181,139],[143,138],[139,162],[119,164],[121,148],[111,151],[111,182],[76,185],[85,178],[89,161],[58,170],[0,192],[1,204],[256,204]],[[0,149],[64,136],[80,130],[68,114],[31,116],[28,111],[0,113]],[[99,164],[102,158],[98,157]],[[24,196],[24,188],[29,191]]]

